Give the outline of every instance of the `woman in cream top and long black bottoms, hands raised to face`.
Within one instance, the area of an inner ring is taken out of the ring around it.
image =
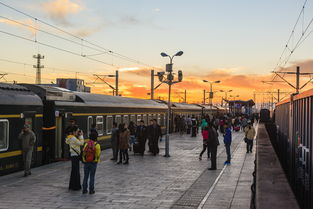
[[[65,143],[70,147],[70,156],[72,162],[71,177],[69,183],[69,190],[80,190],[80,172],[79,172],[79,160],[80,160],[80,147],[84,145],[83,133],[74,126],[71,131],[68,132]]]

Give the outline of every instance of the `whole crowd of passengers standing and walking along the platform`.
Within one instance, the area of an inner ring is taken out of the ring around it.
[[[205,115],[202,118],[192,116],[179,116],[174,118],[174,132],[179,134],[188,134],[191,137],[196,137],[201,130],[203,138],[203,149],[199,155],[199,160],[202,160],[202,155],[207,151],[208,159],[211,158],[211,167],[209,170],[216,170],[216,153],[217,147],[220,144],[218,140],[219,134],[223,135],[223,142],[226,148],[227,160],[225,164],[230,164],[231,154],[230,147],[232,142],[232,131],[244,131],[245,142],[247,143],[247,153],[252,152],[253,139],[255,129],[253,127],[254,120],[257,117],[248,118],[245,115],[215,115],[212,118]],[[144,156],[146,144],[148,143],[148,152],[156,156],[159,154],[159,141],[162,140],[161,126],[156,119],[149,121],[149,125],[145,125],[141,120],[139,124],[130,122],[129,124],[113,123],[111,146],[112,146],[112,161],[116,164],[129,163],[128,150]],[[88,140],[84,139],[84,134],[76,124],[75,119],[70,120],[69,126],[65,130],[66,144],[69,145],[71,159],[71,175],[69,182],[69,190],[81,190],[82,193],[94,194],[94,182],[97,164],[100,162],[101,147],[98,144],[98,132],[96,125],[93,124],[88,133]],[[22,141],[24,176],[31,175],[30,165],[32,158],[32,150],[36,141],[35,134],[28,125],[22,129],[19,139]],[[80,161],[84,164],[84,179],[83,185],[80,181]],[[89,182],[89,187],[88,187]]]

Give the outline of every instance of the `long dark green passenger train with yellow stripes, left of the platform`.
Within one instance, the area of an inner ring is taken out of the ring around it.
[[[172,103],[170,120],[176,115],[214,114],[224,111],[196,104]],[[109,95],[73,92],[49,85],[0,83],[0,175],[22,169],[18,134],[24,124],[31,126],[37,141],[33,165],[67,159],[65,129],[71,119],[83,130],[84,137],[96,124],[102,148],[110,147],[113,122],[137,123],[157,119],[166,129],[167,103]],[[170,123],[173,128],[175,124]]]

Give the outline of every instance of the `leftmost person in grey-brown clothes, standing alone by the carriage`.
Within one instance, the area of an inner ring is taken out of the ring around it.
[[[30,167],[32,162],[32,154],[36,142],[35,133],[30,130],[29,125],[24,125],[18,139],[22,141],[22,154],[24,165],[24,177],[31,175]]]

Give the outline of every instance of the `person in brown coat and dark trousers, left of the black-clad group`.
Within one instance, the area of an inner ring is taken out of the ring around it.
[[[128,156],[128,148],[129,148],[129,137],[130,132],[127,129],[126,124],[121,123],[118,127],[118,135],[119,135],[119,152],[120,152],[120,160],[117,164],[123,163],[123,159],[125,159],[125,162],[123,164],[128,164],[129,162],[129,156]]]

